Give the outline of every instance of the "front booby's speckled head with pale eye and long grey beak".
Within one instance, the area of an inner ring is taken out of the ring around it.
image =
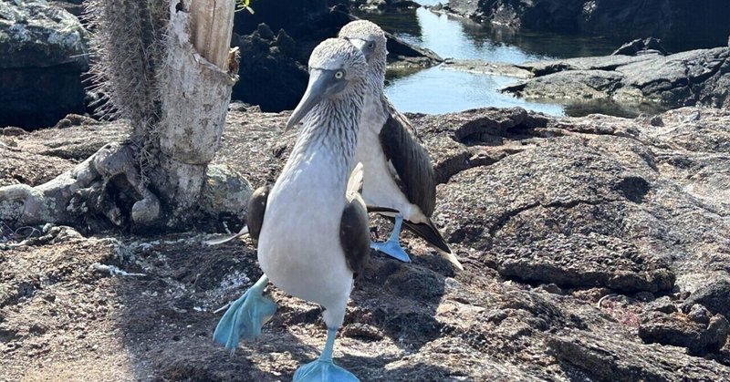
[[[355,46],[341,38],[319,43],[309,57],[307,91],[287,121],[287,129],[297,125],[324,100],[347,98],[362,92],[368,63]]]

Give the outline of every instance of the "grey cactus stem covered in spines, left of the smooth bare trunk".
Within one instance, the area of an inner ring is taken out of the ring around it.
[[[94,31],[91,87],[106,95],[101,112],[130,121],[143,185],[157,165],[160,93],[156,86],[165,55],[167,0],[90,0],[86,17]]]

